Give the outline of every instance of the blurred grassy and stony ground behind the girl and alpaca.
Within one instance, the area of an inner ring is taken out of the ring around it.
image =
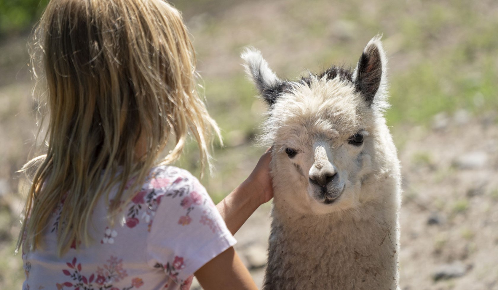
[[[34,142],[26,43],[48,0],[0,0],[0,289],[20,289],[14,256],[23,197],[15,173]],[[208,109],[223,130],[216,170],[204,178],[216,202],[250,173],[265,105],[241,66],[261,50],[283,78],[331,64],[354,67],[383,33],[389,57],[386,118],[403,166],[400,287],[498,289],[498,1],[176,0],[197,50]],[[190,144],[179,166],[196,172]],[[237,234],[260,285],[270,204]],[[193,288],[196,288],[194,286]]]

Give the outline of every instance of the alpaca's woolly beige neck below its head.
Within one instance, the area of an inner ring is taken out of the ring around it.
[[[275,204],[265,289],[396,289],[397,217],[381,206],[312,216]]]

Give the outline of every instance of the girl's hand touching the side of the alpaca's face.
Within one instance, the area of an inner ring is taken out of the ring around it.
[[[249,177],[242,183],[242,186],[247,187],[249,194],[254,194],[254,198],[259,205],[270,201],[273,197],[270,176],[272,148],[266,149],[266,152],[259,158],[256,167],[254,167]]]

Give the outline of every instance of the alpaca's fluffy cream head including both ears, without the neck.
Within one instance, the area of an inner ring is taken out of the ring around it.
[[[354,71],[331,67],[297,82],[280,80],[258,51],[242,57],[269,104],[261,141],[274,149],[275,202],[313,213],[357,206],[373,172],[375,120],[386,106],[380,37],[367,44]]]

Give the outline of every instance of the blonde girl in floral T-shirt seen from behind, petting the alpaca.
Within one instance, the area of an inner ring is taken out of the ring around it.
[[[188,289],[195,274],[207,290],[255,289],[232,234],[272,197],[269,154],[218,210],[168,166],[189,133],[209,166],[220,136],[180,13],[162,0],[51,0],[34,40],[49,117],[46,155],[23,168],[35,169],[23,288]]]

